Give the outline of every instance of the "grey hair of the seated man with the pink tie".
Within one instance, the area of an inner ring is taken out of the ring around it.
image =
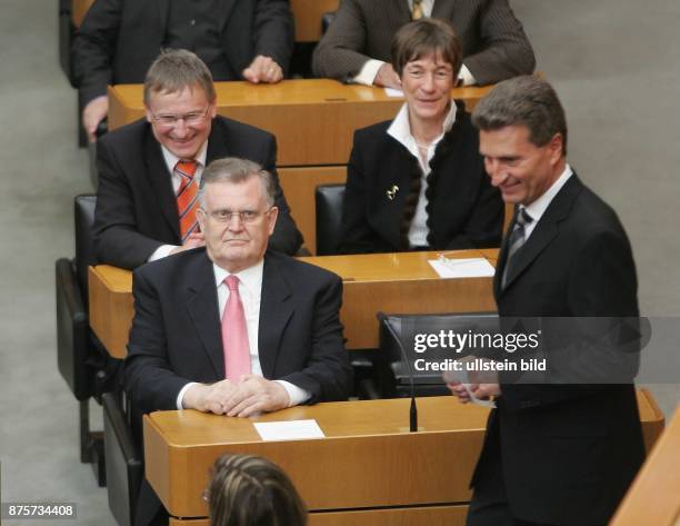
[[[274,204],[274,193],[277,183],[267,170],[260,165],[248,159],[239,159],[238,157],[224,157],[223,159],[213,160],[201,176],[201,183],[198,191],[198,199],[201,207],[206,206],[206,186],[212,182],[231,182],[240,185],[246,182],[251,177],[260,179],[262,196],[267,204],[272,207]]]

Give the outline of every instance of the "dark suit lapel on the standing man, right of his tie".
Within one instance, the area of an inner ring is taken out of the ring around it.
[[[512,267],[508,274],[508,281],[503,290],[507,290],[524,269],[550,245],[559,234],[559,224],[569,217],[574,199],[580,193],[583,185],[573,173],[567,183],[552,199],[548,209],[531,232],[531,236],[513,257]],[[499,267],[500,267],[499,260]],[[506,261],[502,261],[504,266]],[[501,291],[502,294],[502,291]]]

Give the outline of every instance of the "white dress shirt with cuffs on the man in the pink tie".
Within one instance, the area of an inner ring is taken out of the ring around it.
[[[212,265],[214,271],[214,284],[218,291],[218,308],[220,319],[224,312],[227,300],[229,299],[229,287],[224,284],[224,279],[230,276],[230,272],[217,265]],[[239,295],[243,304],[243,312],[246,315],[246,328],[248,331],[248,347],[250,348],[250,369],[253,375],[263,376],[262,367],[260,366],[260,356],[258,347],[259,327],[260,327],[260,299],[262,297],[262,271],[264,270],[264,260],[246,270],[236,272],[239,278]],[[286,389],[290,397],[290,406],[297,406],[307,401],[310,394],[304,389],[286,380],[274,380]],[[189,383],[180,390],[177,397],[177,408],[183,409],[182,400],[187,389],[196,383]]]

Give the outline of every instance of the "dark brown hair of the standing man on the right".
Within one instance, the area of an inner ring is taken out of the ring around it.
[[[552,86],[534,76],[499,82],[474,108],[472,123],[482,131],[526,126],[529,140],[539,147],[560,133],[562,155],[567,155],[564,109]]]

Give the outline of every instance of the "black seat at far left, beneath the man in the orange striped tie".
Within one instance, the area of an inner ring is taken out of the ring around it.
[[[80,460],[93,465],[99,485],[104,486],[102,434],[90,430],[89,400],[113,389],[120,360],[109,357],[89,326],[88,266],[94,264],[91,232],[94,207],[94,196],[74,198],[76,257],[54,264],[57,365],[79,404]]]

